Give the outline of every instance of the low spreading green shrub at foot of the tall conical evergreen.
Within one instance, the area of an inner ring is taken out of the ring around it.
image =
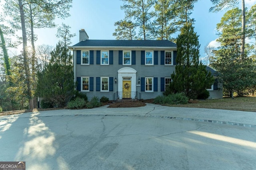
[[[187,104],[188,97],[184,93],[169,94],[168,96],[157,96],[154,104]]]

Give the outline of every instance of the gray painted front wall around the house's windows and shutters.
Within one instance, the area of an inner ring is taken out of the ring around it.
[[[96,50],[94,50],[94,63],[96,63]],[[118,64],[118,50],[113,51],[113,64],[110,65],[100,65],[100,64],[90,64],[90,65],[81,65],[76,64],[76,77],[88,76],[94,77],[94,91],[85,92],[88,96],[88,99],[93,96],[102,96],[108,97],[110,100],[113,98],[113,94],[118,91],[118,83],[114,83],[113,92],[96,92],[96,77],[113,77],[118,78],[118,70],[124,67],[130,67],[137,71],[136,77],[154,77],[158,78],[158,91],[157,92],[141,92],[140,86],[136,86],[136,91],[140,92],[143,99],[155,98],[158,95],[162,95],[160,90],[160,78],[161,77],[170,77],[174,72],[175,66],[165,66],[160,65],[160,51],[158,51],[158,64],[157,65],[141,65],[141,51],[136,51],[136,64],[132,65],[122,65]],[[118,80],[119,81],[119,80]],[[122,81],[122,80],[120,80]],[[136,82],[138,84],[138,80]],[[122,90],[119,90],[122,91]]]

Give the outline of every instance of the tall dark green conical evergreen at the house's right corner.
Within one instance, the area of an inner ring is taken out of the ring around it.
[[[171,75],[172,92],[184,92],[190,99],[196,99],[214,81],[206,66],[199,61],[198,35],[192,23],[186,23],[177,38],[175,73]]]

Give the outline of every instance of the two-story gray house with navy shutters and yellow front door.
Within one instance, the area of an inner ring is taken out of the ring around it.
[[[110,100],[162,95],[175,70],[177,47],[168,40],[90,40],[79,31],[73,51],[76,89]]]

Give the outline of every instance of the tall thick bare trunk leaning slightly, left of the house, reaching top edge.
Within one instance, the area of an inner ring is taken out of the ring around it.
[[[22,0],[18,0],[20,7],[20,22],[22,28],[22,44],[23,44],[23,58],[24,58],[24,69],[26,76],[26,85],[28,92],[28,100],[29,100],[29,109],[33,109],[34,104],[31,98],[31,88],[30,88],[30,75],[29,75],[29,64],[28,64],[28,54],[26,51],[27,48],[27,34],[26,34],[26,25],[25,25],[25,15]]]

